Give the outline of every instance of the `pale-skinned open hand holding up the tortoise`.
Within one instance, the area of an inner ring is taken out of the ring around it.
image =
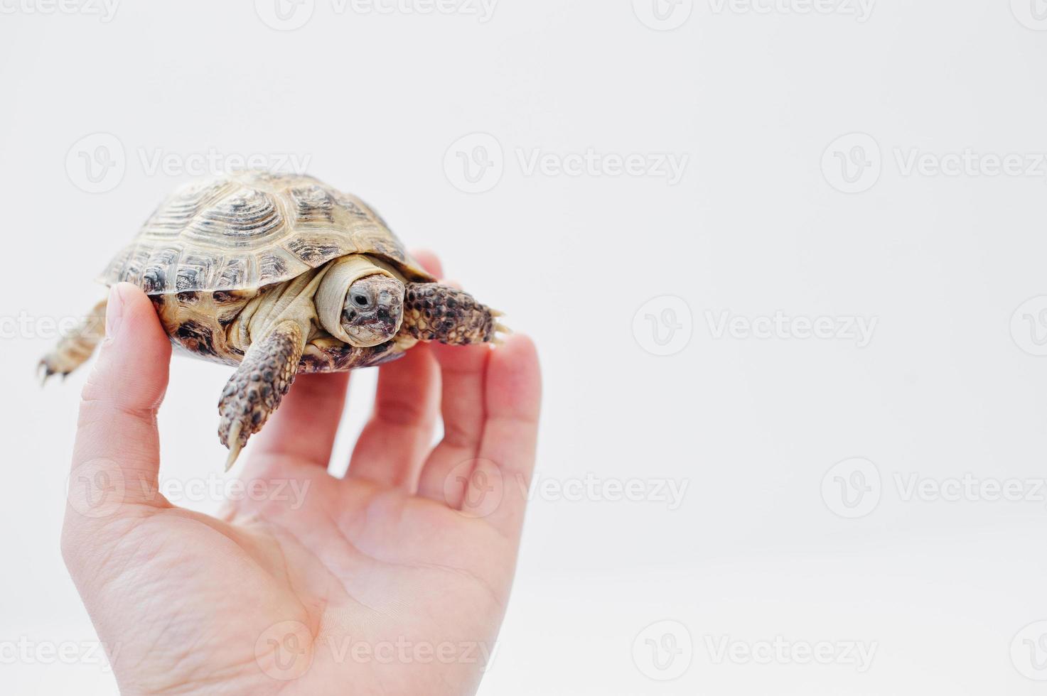
[[[213,518],[155,492],[171,344],[152,304],[115,287],[106,330],[71,481],[110,493],[70,486],[62,551],[121,693],[475,692],[485,656],[505,658],[534,468],[529,339],[420,344],[383,365],[344,479],[327,465],[349,376],[299,376],[241,476],[293,480],[302,504],[246,496]]]

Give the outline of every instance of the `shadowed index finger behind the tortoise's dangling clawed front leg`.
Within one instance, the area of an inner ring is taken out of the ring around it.
[[[298,375],[280,408],[255,435],[251,461],[290,456],[326,469],[348,388],[349,373]],[[251,468],[248,463],[247,469]]]

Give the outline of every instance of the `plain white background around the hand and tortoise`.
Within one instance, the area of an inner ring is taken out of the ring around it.
[[[1023,632],[1047,619],[1042,1],[656,0],[660,23],[655,0],[502,0],[488,21],[315,0],[294,30],[263,21],[273,1],[125,0],[103,21],[0,0],[0,645],[94,639],[58,551],[85,375],[35,382],[47,321],[101,297],[201,155],[277,153],[537,340],[538,481],[591,476],[532,503],[483,694],[1042,693],[1047,638]],[[477,147],[494,166],[465,193]],[[580,175],[526,165],[589,150],[603,165]],[[934,169],[965,152],[989,157]],[[1008,154],[1020,171],[993,176]],[[630,155],[688,159],[675,183],[616,176]],[[831,336],[763,333],[778,312]],[[867,345],[838,332],[850,317],[876,321]],[[162,477],[219,475],[227,376],[173,364]],[[964,474],[1026,499],[909,495]],[[644,499],[607,499],[633,479]],[[865,671],[716,654],[777,636],[875,652]],[[655,664],[648,638],[682,652]],[[89,658],[0,657],[4,693],[114,690]]]

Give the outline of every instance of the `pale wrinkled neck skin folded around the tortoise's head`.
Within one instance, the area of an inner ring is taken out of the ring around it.
[[[280,323],[297,321],[302,335],[310,341],[326,332],[351,343],[341,327],[346,293],[354,280],[381,273],[403,279],[394,268],[363,254],[342,256],[302,275],[267,288],[244,307],[226,329],[232,347],[247,352]]]

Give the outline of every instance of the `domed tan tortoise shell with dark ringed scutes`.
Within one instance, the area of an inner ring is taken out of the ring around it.
[[[355,196],[309,176],[244,172],[176,190],[99,279],[151,295],[253,290],[351,253],[433,279]]]

